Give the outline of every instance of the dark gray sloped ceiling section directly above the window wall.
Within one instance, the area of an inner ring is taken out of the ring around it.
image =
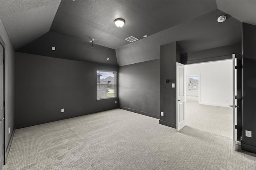
[[[117,65],[116,51],[114,49],[96,44],[93,44],[92,47],[92,43],[89,41],[90,39],[86,42],[48,31],[38,39],[35,39],[28,45],[19,49],[18,52],[76,61]],[[96,40],[94,43],[95,42]],[[55,51],[52,51],[52,46],[56,47]],[[107,58],[110,59],[107,61]]]

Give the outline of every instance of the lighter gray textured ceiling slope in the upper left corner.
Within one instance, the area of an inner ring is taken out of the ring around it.
[[[60,0],[0,0],[0,19],[14,50],[50,30]]]

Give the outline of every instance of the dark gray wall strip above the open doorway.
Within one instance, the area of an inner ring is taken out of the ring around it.
[[[180,62],[182,64],[194,64],[218,60],[232,59],[232,54],[241,54],[242,44],[227,45],[203,51],[196,51],[193,53],[186,53],[181,55]]]

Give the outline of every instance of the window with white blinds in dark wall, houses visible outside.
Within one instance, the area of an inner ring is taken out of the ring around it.
[[[97,99],[116,97],[116,74],[113,71],[97,70]]]

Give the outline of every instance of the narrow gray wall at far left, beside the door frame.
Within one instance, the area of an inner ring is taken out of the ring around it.
[[[14,134],[14,49],[4,30],[4,26],[0,21],[0,37],[5,43],[5,70],[4,70],[4,86],[5,86],[5,152],[8,154],[8,149]],[[10,134],[8,128],[10,127]],[[6,155],[7,157],[7,155]]]

